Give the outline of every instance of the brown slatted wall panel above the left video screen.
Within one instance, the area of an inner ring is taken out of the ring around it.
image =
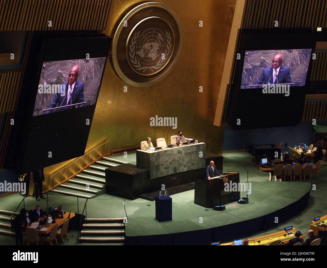
[[[111,0],[0,0],[0,30],[103,30]],[[48,27],[51,20],[52,27]]]

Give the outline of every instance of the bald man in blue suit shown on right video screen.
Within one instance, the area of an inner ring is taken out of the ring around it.
[[[270,84],[285,84],[292,83],[289,68],[282,65],[283,56],[275,55],[271,61],[271,67],[265,68],[259,79],[255,82],[256,85]]]

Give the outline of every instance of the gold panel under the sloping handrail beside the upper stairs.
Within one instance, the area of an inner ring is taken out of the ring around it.
[[[70,163],[68,166],[62,168],[61,170],[53,174],[52,191],[54,190],[55,185],[60,185],[65,181],[68,182],[70,178],[74,177],[80,171],[86,168],[90,168],[90,165],[92,165],[95,161],[105,155],[110,155],[110,140],[95,147],[90,152],[84,154],[83,156],[76,159],[74,162]]]

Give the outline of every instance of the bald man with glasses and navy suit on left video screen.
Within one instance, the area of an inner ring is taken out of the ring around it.
[[[58,92],[53,100],[51,101],[51,104],[49,105],[49,108],[55,108],[57,105],[58,107],[66,106],[70,104],[80,103],[84,102],[84,83],[82,81],[77,80],[79,75],[79,66],[74,65],[68,75],[68,82],[66,82],[65,90],[66,94],[65,96],[61,96],[60,92]],[[82,107],[83,104],[80,104],[79,107]],[[65,107],[60,110],[67,110],[72,109],[74,106]],[[52,111],[47,111],[46,114],[51,113]]]

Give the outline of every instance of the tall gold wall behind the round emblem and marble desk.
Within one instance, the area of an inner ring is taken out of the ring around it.
[[[115,72],[109,56],[104,72],[87,149],[110,139],[111,149],[137,146],[147,136],[156,139],[182,130],[186,137],[211,142],[210,150],[221,152],[224,128],[213,125],[236,1],[162,0],[177,14],[183,44],[178,61],[167,77],[148,87],[127,84]],[[113,36],[122,17],[144,3],[112,1],[106,35]],[[199,27],[203,21],[203,27]],[[127,86],[128,92],[124,92]],[[199,86],[203,92],[199,92]],[[177,117],[177,129],[151,127],[150,117]],[[168,143],[168,142],[167,142]]]

